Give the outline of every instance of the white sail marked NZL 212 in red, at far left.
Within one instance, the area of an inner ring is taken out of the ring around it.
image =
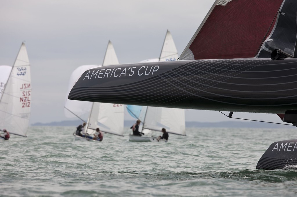
[[[22,43],[0,100],[0,128],[26,137],[31,112],[31,74]]]

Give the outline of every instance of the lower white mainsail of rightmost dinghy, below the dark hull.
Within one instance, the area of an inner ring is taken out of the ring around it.
[[[168,133],[186,135],[184,109],[148,107],[143,128]]]

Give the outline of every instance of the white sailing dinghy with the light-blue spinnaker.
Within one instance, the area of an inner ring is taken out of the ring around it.
[[[170,31],[167,30],[159,58],[147,59],[141,62],[175,61],[177,59],[178,52],[176,46]],[[132,117],[135,117],[136,119],[140,120],[140,122],[142,122],[139,130],[141,133],[145,133],[145,135],[142,136],[130,134],[129,141],[160,141],[160,139],[158,139],[156,136],[152,136],[152,131],[161,131],[162,128],[165,128],[168,133],[186,135],[184,109],[133,105],[127,105],[126,107],[127,111]]]

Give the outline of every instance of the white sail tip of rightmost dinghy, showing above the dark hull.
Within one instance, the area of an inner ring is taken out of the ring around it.
[[[172,35],[169,30],[167,30],[161,54],[159,57],[159,62],[163,61],[175,61],[178,59],[178,52],[174,44]]]

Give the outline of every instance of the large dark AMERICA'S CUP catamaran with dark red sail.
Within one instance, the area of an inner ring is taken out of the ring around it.
[[[217,0],[180,61],[119,65],[100,79],[88,77],[87,71],[68,98],[230,111],[228,117],[274,113],[297,126],[296,19],[296,0]],[[264,154],[256,168],[296,166],[291,149],[296,142],[272,144],[271,154]]]

